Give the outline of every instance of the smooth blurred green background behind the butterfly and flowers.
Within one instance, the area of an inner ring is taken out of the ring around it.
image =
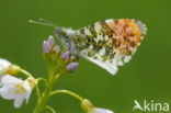
[[[75,91],[115,113],[148,113],[133,112],[134,100],[171,103],[170,12],[170,0],[1,0],[0,57],[46,77],[42,42],[54,29],[27,20],[43,18],[73,29],[111,18],[140,20],[147,24],[148,34],[132,61],[116,76],[81,59],[79,69],[64,76],[56,89]],[[15,110],[12,101],[0,99],[0,113],[32,113],[35,101],[33,92],[30,103]],[[79,102],[68,95],[56,95],[49,104],[60,113],[83,113]]]

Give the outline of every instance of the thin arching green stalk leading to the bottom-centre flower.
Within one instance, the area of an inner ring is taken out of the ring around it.
[[[69,94],[71,97],[76,98],[77,100],[79,100],[80,102],[82,102],[84,100],[82,97],[78,95],[77,93],[75,93],[72,91],[68,91],[68,90],[56,90],[56,91],[50,92],[50,95],[59,94],[59,93]]]

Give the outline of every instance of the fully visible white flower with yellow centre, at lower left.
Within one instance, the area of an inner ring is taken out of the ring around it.
[[[5,75],[1,80],[0,95],[3,99],[14,100],[14,108],[20,108],[23,101],[29,102],[32,89],[37,83],[33,77],[22,80],[10,75]]]

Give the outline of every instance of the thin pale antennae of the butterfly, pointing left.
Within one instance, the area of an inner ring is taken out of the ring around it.
[[[46,21],[44,19],[39,19],[38,21],[34,21],[34,20],[29,20],[30,23],[34,23],[34,24],[42,24],[42,25],[47,25],[47,26],[53,26],[53,27],[57,27],[58,25],[50,22],[50,21]]]

